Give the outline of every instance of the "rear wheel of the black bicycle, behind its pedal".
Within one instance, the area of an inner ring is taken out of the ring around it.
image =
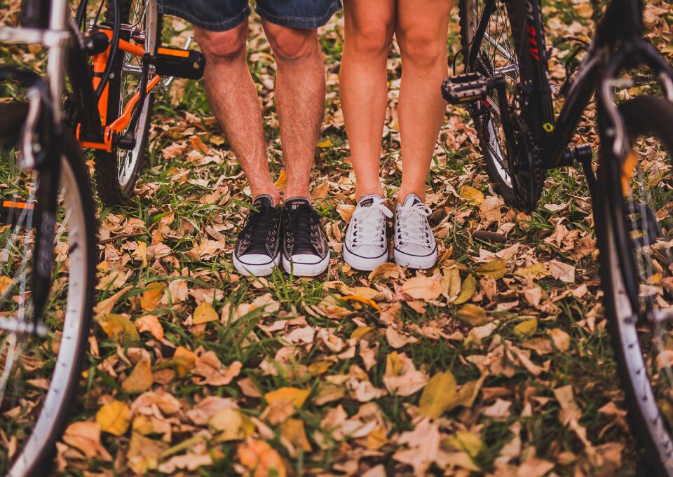
[[[524,5],[522,1],[496,2],[478,53],[471,61],[470,50],[473,48],[480,20],[484,16],[486,3],[484,0],[460,0],[458,4],[465,73],[474,71],[486,78],[505,76],[510,111],[516,114],[519,112],[515,102],[517,83],[533,81],[529,55],[520,54],[522,48],[527,48],[527,43],[522,43],[522,39],[526,38]],[[508,205],[521,209],[522,202],[517,197],[510,175],[505,133],[496,93],[493,92],[484,102],[468,106],[468,109],[475,121],[489,179]]]

